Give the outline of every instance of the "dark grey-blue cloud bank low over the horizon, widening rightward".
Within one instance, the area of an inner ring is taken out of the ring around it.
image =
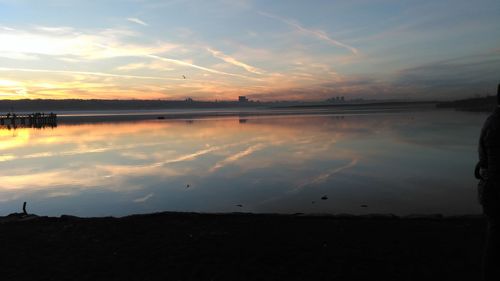
[[[457,99],[476,93],[491,94],[498,82],[499,69],[500,53],[490,50],[406,67],[384,76],[377,73],[339,74],[336,79],[332,77],[332,81],[320,81],[315,77],[311,83],[263,87],[247,96],[256,100],[325,100],[334,96],[347,99]]]

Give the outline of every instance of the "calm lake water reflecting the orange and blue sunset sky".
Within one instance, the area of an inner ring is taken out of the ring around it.
[[[479,213],[473,168],[485,117],[430,111],[0,129],[0,215],[23,201],[40,215]]]

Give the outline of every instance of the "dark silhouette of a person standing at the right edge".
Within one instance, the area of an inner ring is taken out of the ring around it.
[[[500,84],[497,91],[500,106]],[[484,280],[500,280],[500,107],[486,119],[479,139],[479,202],[488,220],[484,251]]]

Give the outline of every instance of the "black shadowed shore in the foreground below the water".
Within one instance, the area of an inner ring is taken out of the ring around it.
[[[1,280],[478,280],[478,217],[0,218]]]

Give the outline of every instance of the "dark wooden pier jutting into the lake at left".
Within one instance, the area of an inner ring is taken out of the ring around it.
[[[57,114],[54,113],[7,113],[0,114],[0,127],[55,127],[57,126]]]

